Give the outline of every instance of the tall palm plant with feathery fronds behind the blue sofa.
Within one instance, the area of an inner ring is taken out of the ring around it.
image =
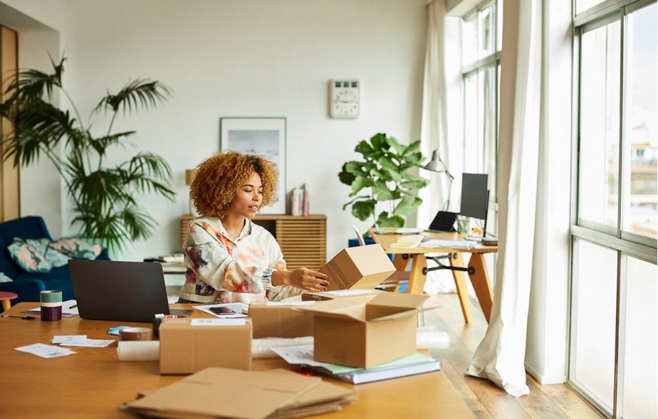
[[[80,235],[120,249],[129,240],[148,238],[155,227],[155,220],[136,197],[156,193],[173,201],[174,191],[169,187],[169,164],[157,154],[137,152],[117,166],[103,164],[110,147],[125,147],[135,134],[113,133],[113,124],[120,110],[125,115],[139,107],[155,107],[167,100],[170,91],[158,81],[140,79],[127,83],[114,95],[108,92],[90,115],[111,114],[107,131],[97,136],[91,131],[92,124],[85,127],[62,86],[65,60],[56,63],[51,58],[52,74],[29,69],[11,78],[6,90],[9,98],[0,104],[0,115],[14,125],[14,131],[2,139],[3,159],[13,157],[14,166],[28,166],[43,153],[66,184],[73,224],[79,226]],[[74,115],[50,103],[56,89],[66,97]]]

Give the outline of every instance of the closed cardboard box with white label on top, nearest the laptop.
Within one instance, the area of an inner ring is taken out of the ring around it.
[[[160,373],[190,374],[209,366],[251,369],[251,319],[165,319]]]

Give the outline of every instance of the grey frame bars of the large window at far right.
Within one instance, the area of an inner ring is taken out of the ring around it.
[[[573,0],[573,11],[576,10],[576,1]],[[592,8],[581,12],[573,17],[573,129],[572,131],[572,182],[571,182],[571,226],[570,226],[570,285],[569,292],[569,355],[567,380],[570,386],[575,388],[583,398],[591,403],[602,415],[608,418],[620,418],[623,412],[623,393],[625,378],[625,336],[626,336],[626,289],[627,289],[627,258],[637,258],[645,262],[657,264],[657,239],[650,238],[637,233],[624,230],[624,211],[626,203],[622,201],[627,188],[625,184],[625,169],[630,163],[630,155],[626,150],[628,145],[626,138],[625,121],[625,95],[627,83],[627,16],[634,11],[642,9],[656,0],[607,0]],[[619,176],[618,182],[618,208],[617,228],[602,225],[593,221],[580,219],[580,70],[581,70],[581,38],[584,33],[600,28],[609,23],[620,21],[620,147],[619,147]],[[616,324],[615,324],[615,375],[614,390],[612,395],[612,413],[608,412],[602,403],[597,400],[584,386],[575,380],[575,327],[578,322],[575,318],[577,312],[578,288],[577,279],[574,278],[576,264],[578,263],[578,249],[575,245],[577,240],[585,240],[604,248],[617,252],[617,297],[616,297]]]

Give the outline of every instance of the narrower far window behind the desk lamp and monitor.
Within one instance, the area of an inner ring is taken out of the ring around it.
[[[503,2],[484,1],[461,22],[464,172],[489,175],[489,223],[496,230],[496,157]]]

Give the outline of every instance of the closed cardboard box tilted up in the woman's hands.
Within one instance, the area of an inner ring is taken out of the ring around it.
[[[375,288],[395,272],[382,245],[357,246],[340,250],[320,272],[328,275],[328,290]]]

